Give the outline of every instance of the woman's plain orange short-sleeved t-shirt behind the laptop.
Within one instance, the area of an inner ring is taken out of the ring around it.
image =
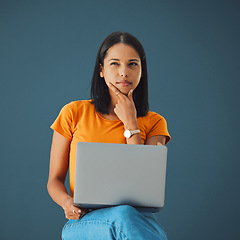
[[[156,135],[170,140],[166,120],[155,112],[137,118],[143,143]],[[101,142],[126,144],[121,120],[108,120],[95,111],[91,100],[74,101],[65,105],[51,128],[71,141],[69,152],[70,191],[74,193],[75,158],[77,142]]]

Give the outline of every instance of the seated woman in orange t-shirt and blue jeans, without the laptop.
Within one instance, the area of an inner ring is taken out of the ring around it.
[[[91,100],[65,105],[51,126],[54,133],[47,187],[69,219],[62,238],[166,239],[153,213],[128,205],[90,212],[73,205],[77,142],[165,145],[170,140],[165,119],[149,112],[146,56],[134,36],[114,32],[103,41],[91,95]],[[68,167],[71,196],[64,186]]]

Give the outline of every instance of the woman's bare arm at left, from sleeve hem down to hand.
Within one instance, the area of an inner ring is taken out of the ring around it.
[[[64,209],[66,218],[78,219],[81,210],[73,206],[73,199],[68,195],[64,185],[68,171],[70,143],[68,139],[54,131],[47,189],[52,199]]]

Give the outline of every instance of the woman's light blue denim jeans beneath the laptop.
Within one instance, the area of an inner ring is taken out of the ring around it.
[[[167,240],[166,233],[151,212],[129,205],[93,210],[79,220],[69,220],[63,240]]]

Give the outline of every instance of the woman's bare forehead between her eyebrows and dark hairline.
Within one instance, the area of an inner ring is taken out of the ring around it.
[[[111,58],[120,60],[131,58],[140,59],[138,52],[132,46],[124,43],[117,43],[108,49],[105,59]]]

